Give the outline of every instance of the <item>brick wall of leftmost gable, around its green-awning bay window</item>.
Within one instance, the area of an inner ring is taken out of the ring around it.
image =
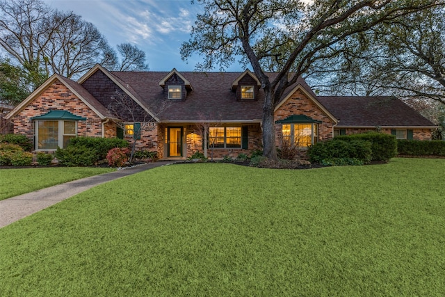
[[[99,116],[58,80],[15,115],[14,133],[24,134],[33,140],[34,129],[31,118],[44,115],[51,110],[70,111],[74,115],[86,118],[86,121],[77,122],[78,136],[102,137],[102,121]]]

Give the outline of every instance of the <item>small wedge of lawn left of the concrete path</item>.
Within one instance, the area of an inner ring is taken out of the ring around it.
[[[114,170],[88,167],[3,169],[0,170],[0,200]]]

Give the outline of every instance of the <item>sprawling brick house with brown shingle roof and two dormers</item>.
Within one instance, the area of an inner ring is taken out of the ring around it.
[[[204,152],[207,143],[213,156],[222,158],[261,148],[260,86],[249,70],[110,72],[96,65],[79,81],[54,74],[6,117],[14,133],[33,140],[36,151],[94,136],[138,138],[139,149],[156,150],[161,159],[184,159]],[[136,107],[116,111],[113,102],[119,98]],[[284,138],[307,147],[370,130],[427,140],[435,128],[394,97],[322,97],[304,79],[286,90],[275,109],[277,146]]]

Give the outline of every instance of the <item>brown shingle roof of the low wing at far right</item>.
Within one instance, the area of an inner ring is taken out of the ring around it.
[[[317,99],[339,120],[337,127],[436,127],[395,97],[318,96]]]

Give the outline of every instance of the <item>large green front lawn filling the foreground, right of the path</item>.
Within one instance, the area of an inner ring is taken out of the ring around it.
[[[445,160],[164,166],[0,230],[1,296],[444,296]]]

